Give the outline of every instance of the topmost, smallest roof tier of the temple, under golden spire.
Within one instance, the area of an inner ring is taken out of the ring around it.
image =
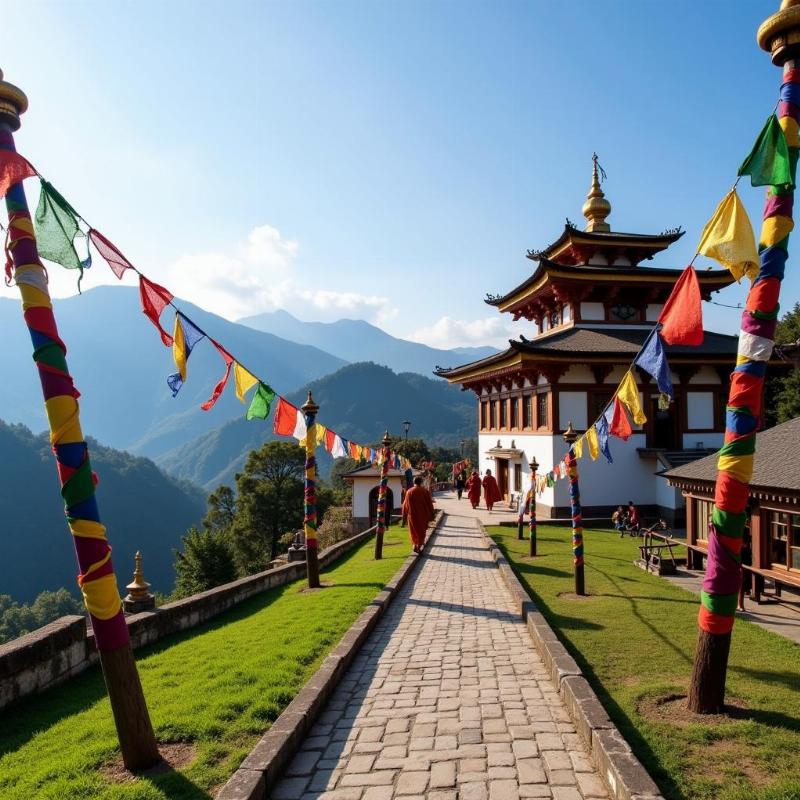
[[[582,231],[569,220],[561,235],[543,250],[528,250],[528,258],[534,261],[540,256],[564,264],[580,264],[588,253],[623,252],[632,264],[651,259],[656,253],[666,250],[677,242],[685,231],[672,228],[663,233],[624,233],[622,231]]]

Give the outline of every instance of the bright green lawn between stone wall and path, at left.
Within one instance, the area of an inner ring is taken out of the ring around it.
[[[217,620],[137,652],[159,742],[196,749],[186,767],[152,778],[109,777],[120,763],[99,669],[3,712],[3,800],[207,798],[224,783],[410,553],[387,531],[331,565],[324,583],[273,589]]]

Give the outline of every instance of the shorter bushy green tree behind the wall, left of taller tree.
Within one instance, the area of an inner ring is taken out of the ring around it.
[[[236,578],[233,553],[225,533],[190,528],[182,541],[183,552],[175,551],[174,598],[204,592]]]

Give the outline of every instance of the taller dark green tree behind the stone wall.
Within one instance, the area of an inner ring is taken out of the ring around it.
[[[302,527],[304,467],[305,453],[291,442],[267,442],[247,457],[236,476],[239,498],[231,525],[240,574],[266,569],[281,537]]]

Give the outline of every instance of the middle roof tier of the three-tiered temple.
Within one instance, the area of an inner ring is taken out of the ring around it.
[[[613,287],[614,293],[618,293],[620,289],[647,289],[651,295],[649,302],[663,302],[683,273],[682,269],[664,267],[562,264],[544,255],[538,256],[538,262],[536,270],[529,278],[504,295],[487,295],[485,302],[501,312],[514,314],[515,319],[521,316],[532,319],[537,304],[546,305],[554,300],[563,302],[565,298],[584,299],[598,284]],[[729,286],[734,277],[727,269],[702,270],[697,272],[697,280],[703,299],[708,300],[711,292]],[[607,292],[605,296],[608,297]]]

